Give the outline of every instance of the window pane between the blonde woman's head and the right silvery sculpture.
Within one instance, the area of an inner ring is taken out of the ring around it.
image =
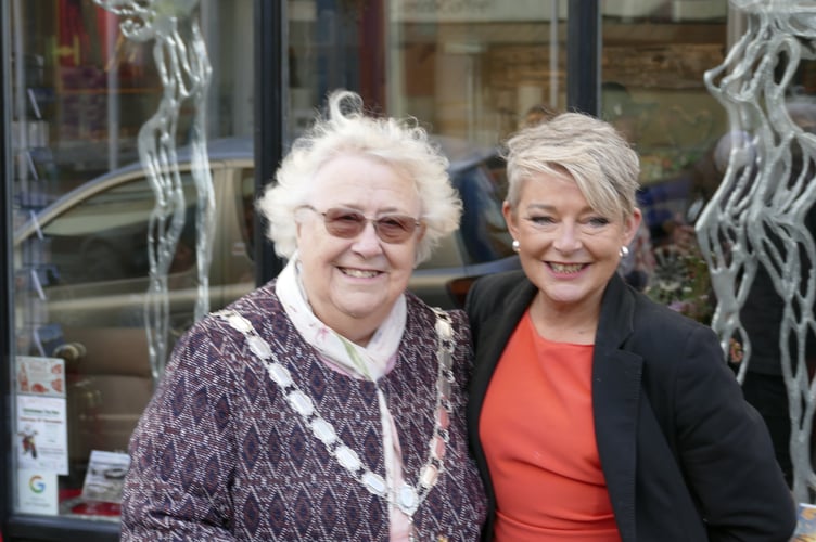
[[[693,279],[707,276],[693,216],[700,193],[714,190],[721,178],[713,156],[728,117],[704,77],[729,47],[728,2],[600,5],[599,113],[640,156],[643,222],[622,271],[654,299],[705,322],[712,297],[706,281]]]

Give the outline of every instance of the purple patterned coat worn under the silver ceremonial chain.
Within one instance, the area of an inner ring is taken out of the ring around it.
[[[394,370],[381,380],[416,483],[428,457],[436,399],[434,314],[408,295]],[[248,319],[369,469],[384,473],[372,383],[322,363],[286,317],[273,282],[231,307]],[[470,331],[451,313],[456,351],[445,472],[415,515],[420,540],[476,540],[485,498],[464,435]],[[241,333],[218,318],[177,345],[130,440],[123,541],[387,540],[386,502],[355,481],[304,426]]]

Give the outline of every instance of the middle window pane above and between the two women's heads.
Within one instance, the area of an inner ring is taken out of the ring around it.
[[[557,0],[290,0],[290,136],[345,87],[436,134],[495,145],[531,109],[564,107],[565,17]]]

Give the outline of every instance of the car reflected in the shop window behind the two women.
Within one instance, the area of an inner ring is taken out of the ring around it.
[[[460,229],[415,270],[409,289],[429,305],[460,307],[477,276],[519,268],[501,215],[503,163],[439,139],[463,202]],[[214,141],[209,167],[216,201],[209,308],[217,310],[255,287],[253,209],[255,168],[248,139]],[[179,152],[187,205],[184,228],[168,274],[170,345],[193,323],[197,296],[195,186]],[[139,164],[86,182],[15,229],[17,352],[66,358],[69,456],[124,450],[153,391],[145,333],[149,287],[148,224],[154,194]]]

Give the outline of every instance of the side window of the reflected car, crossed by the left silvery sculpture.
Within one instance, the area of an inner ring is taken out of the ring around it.
[[[181,175],[184,227],[170,272],[195,266],[195,188]],[[93,194],[40,224],[56,283],[62,285],[148,276],[148,227],[155,197],[143,177]]]

